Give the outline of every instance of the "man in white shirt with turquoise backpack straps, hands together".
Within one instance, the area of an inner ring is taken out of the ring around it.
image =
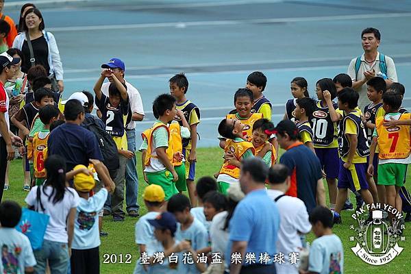
[[[381,76],[386,80],[387,88],[393,82],[398,82],[398,79],[393,59],[378,51],[381,41],[379,30],[367,27],[361,32],[361,39],[364,53],[351,60],[347,74],[353,81],[353,88],[360,95],[358,107],[360,110],[364,110],[364,107],[369,104],[369,99],[366,96],[366,82],[369,79]]]

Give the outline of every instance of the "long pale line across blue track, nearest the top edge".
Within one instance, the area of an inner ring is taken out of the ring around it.
[[[142,29],[153,27],[198,27],[198,26],[222,26],[222,25],[242,25],[258,23],[299,23],[314,21],[338,21],[338,20],[358,20],[375,18],[401,18],[410,17],[411,12],[391,12],[379,14],[354,14],[336,16],[312,16],[312,17],[288,17],[288,18],[264,18],[251,20],[221,20],[221,21],[190,21],[190,22],[169,22],[169,23],[140,23],[140,24],[121,24],[121,25],[90,25],[78,27],[50,27],[50,32],[84,32],[90,30],[105,31],[108,29]]]

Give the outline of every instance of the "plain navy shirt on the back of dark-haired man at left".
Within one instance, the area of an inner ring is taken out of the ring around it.
[[[103,161],[95,134],[73,123],[56,127],[50,133],[47,147],[49,155],[57,154],[66,159],[67,171],[77,164],[88,166],[89,159]]]

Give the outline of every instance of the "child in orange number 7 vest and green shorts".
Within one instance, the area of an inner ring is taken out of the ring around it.
[[[396,92],[386,92],[382,95],[382,108],[386,114],[375,119],[368,167],[368,173],[372,176],[375,166],[371,159],[378,145],[378,184],[386,187],[386,203],[397,208],[399,212],[401,212],[401,205],[396,203],[395,198],[399,193],[399,188],[403,186],[407,166],[411,163],[410,125],[386,127],[384,120],[397,120],[399,124],[410,120],[411,114],[399,113],[401,103],[402,97]],[[390,217],[395,216],[390,213]]]

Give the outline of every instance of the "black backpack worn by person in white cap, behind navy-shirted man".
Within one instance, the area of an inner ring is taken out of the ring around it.
[[[99,127],[94,117],[92,119],[84,120],[83,126],[97,137],[101,154],[103,154],[103,163],[107,169],[109,171],[119,169],[119,151],[117,150],[116,142],[114,142],[112,136]]]

